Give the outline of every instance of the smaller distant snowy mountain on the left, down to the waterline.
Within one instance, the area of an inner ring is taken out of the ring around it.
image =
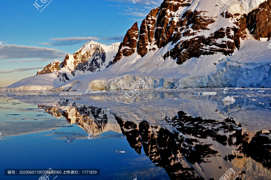
[[[55,60],[43,70],[39,70],[36,76],[22,79],[2,91],[24,91],[52,89],[63,82],[67,82],[79,76],[104,70],[113,63],[120,42],[112,45],[104,45],[99,42],[86,42],[73,54],[67,54],[61,63]]]

